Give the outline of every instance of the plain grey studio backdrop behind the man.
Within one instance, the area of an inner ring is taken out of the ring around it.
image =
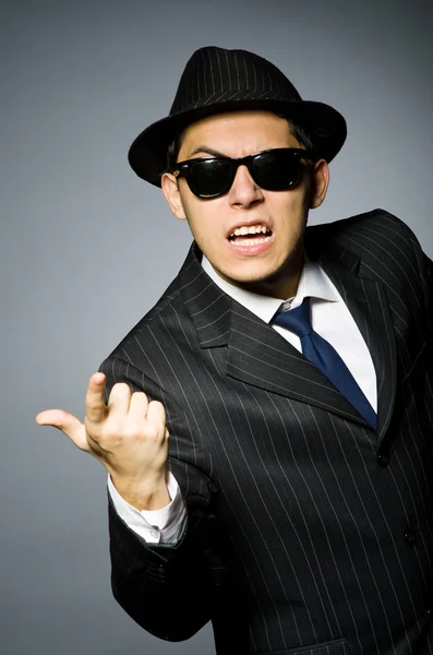
[[[34,415],[82,416],[89,374],[178,271],[191,237],[125,155],[168,114],[187,59],[241,47],[347,118],[327,222],[382,206],[433,253],[433,3],[1,2],[3,654],[207,654],[166,644],[111,597],[106,476]]]

